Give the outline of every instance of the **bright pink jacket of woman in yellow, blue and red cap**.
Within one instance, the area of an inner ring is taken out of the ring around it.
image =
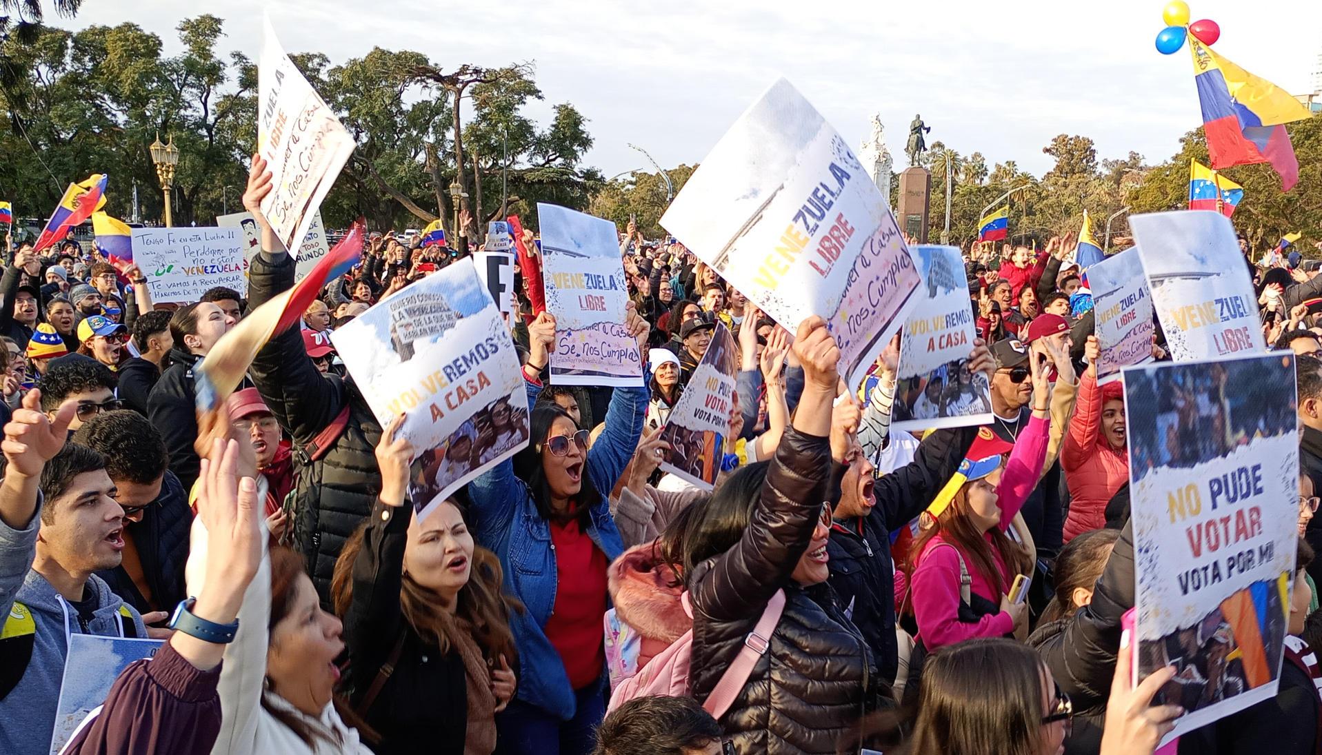
[[[997,526],[1001,532],[1010,526],[1014,514],[1019,513],[1023,501],[1038,485],[1042,464],[1047,457],[1048,430],[1050,422],[1047,419],[1036,417],[1029,419],[1027,427],[1023,428],[1014,444],[1014,451],[1010,452],[1010,460],[1006,463],[1005,472],[1001,473],[1001,484],[997,487],[997,506],[1001,509],[1001,524]],[[984,538],[990,546],[990,533],[985,534]],[[940,543],[953,547],[937,547]],[[944,534],[933,537],[919,557],[911,588],[914,619],[917,621],[923,644],[929,651],[973,637],[999,637],[1014,631],[1014,620],[1005,611],[982,616],[976,624],[960,621],[961,557],[969,576],[973,578],[972,592],[993,603],[1001,602],[1001,591],[988,582],[969,554],[964,553],[964,549],[953,541],[945,539]],[[1001,580],[1009,584],[1013,575],[1006,574],[1001,554],[994,547],[992,557],[1001,571]]]

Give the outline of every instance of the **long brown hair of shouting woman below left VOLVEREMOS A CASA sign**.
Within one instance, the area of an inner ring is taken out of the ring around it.
[[[471,522],[468,500],[463,491],[447,498],[447,502],[459,509],[465,525]],[[340,558],[334,562],[330,599],[334,612],[340,616],[349,612],[349,604],[353,602],[353,563],[362,550],[366,529],[368,522],[362,522],[349,536],[340,550]],[[435,645],[442,655],[449,652],[451,639],[457,632],[468,631],[488,660],[494,662],[504,655],[510,665],[514,665],[514,635],[509,629],[509,617],[516,611],[522,614],[524,604],[501,591],[501,576],[500,559],[496,554],[473,545],[472,570],[468,583],[459,590],[453,616],[446,610],[446,600],[439,594],[419,584],[407,573],[401,579],[399,608],[414,632],[423,641]],[[461,619],[468,625],[459,627],[455,619]],[[379,640],[390,643],[394,637],[379,637]]]

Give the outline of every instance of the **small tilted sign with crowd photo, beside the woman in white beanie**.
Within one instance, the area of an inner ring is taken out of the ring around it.
[[[693,369],[689,385],[661,427],[661,440],[670,444],[662,452],[661,469],[703,491],[715,488],[720,473],[734,410],[738,354],[730,331],[717,323],[702,361]]]

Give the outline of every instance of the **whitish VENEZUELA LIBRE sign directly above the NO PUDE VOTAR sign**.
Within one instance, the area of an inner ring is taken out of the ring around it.
[[[1253,280],[1225,216],[1151,213],[1130,217],[1129,227],[1175,361],[1266,350]]]

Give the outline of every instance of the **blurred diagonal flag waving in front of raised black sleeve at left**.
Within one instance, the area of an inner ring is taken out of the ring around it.
[[[362,218],[354,221],[349,233],[317,260],[307,278],[250,312],[212,346],[193,369],[198,413],[218,409],[234,393],[262,346],[297,323],[328,280],[344,275],[358,263],[362,258],[362,238],[366,235],[364,223]]]

